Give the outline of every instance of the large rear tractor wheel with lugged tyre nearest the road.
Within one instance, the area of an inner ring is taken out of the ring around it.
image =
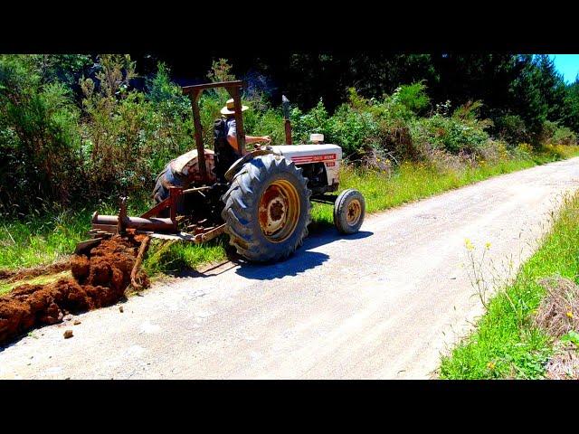
[[[308,236],[310,195],[301,168],[284,157],[252,158],[223,194],[230,244],[256,262],[287,258]]]

